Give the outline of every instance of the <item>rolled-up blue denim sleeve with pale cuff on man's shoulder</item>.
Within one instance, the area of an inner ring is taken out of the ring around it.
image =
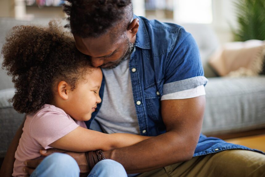
[[[198,46],[192,35],[181,29],[166,60],[163,95],[205,86],[207,82]]]

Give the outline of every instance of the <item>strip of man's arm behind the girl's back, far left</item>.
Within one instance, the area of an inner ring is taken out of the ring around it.
[[[24,121],[18,128],[13,140],[11,141],[8,150],[6,152],[6,156],[4,158],[1,170],[0,170],[0,176],[2,177],[10,177],[12,176],[13,173],[13,167],[14,167],[14,162],[15,162],[15,152],[18,147],[19,139],[23,133],[22,129],[24,126],[24,122],[26,120],[26,116],[24,117]]]

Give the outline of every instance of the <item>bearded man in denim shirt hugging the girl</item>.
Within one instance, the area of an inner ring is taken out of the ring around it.
[[[104,74],[88,128],[155,136],[106,158],[141,177],[265,175],[263,154],[200,134],[207,79],[189,33],[134,16],[130,0],[68,2],[76,47]],[[71,156],[87,164],[84,153]],[[27,165],[31,173],[38,162]]]

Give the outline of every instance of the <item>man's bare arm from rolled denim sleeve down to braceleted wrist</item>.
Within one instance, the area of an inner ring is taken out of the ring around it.
[[[193,157],[199,140],[204,108],[204,95],[190,99],[162,100],[161,113],[166,133],[104,154],[120,162],[128,173],[150,171],[187,161]]]

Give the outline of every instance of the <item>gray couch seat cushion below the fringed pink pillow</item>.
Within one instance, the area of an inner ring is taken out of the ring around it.
[[[265,128],[265,76],[209,78],[205,90],[203,133]]]

